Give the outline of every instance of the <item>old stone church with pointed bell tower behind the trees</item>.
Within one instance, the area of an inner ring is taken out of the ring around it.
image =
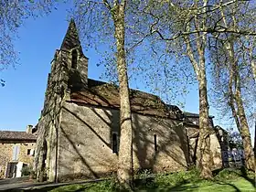
[[[88,78],[74,21],[70,21],[48,74],[44,107],[37,124],[37,178],[63,181],[112,175],[119,152],[119,92],[111,83]],[[133,166],[153,172],[186,170],[195,163],[198,115],[181,112],[155,95],[130,90]],[[212,128],[212,167],[221,166]]]

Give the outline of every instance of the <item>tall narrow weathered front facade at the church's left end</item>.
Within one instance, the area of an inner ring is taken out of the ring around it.
[[[44,109],[37,124],[37,149],[34,170],[37,171],[37,179],[43,181],[45,170],[55,171],[56,162],[56,131],[59,127],[59,112],[61,101],[68,89],[69,72],[67,65],[70,62],[70,54],[67,51],[56,51],[55,59],[51,62],[51,72],[48,75],[48,86],[45,95]],[[46,162],[47,161],[47,162]],[[48,173],[48,176],[55,173]],[[50,177],[53,181],[54,177]]]

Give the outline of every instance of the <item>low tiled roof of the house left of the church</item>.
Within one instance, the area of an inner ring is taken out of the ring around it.
[[[37,141],[35,134],[26,132],[0,131],[0,140]]]

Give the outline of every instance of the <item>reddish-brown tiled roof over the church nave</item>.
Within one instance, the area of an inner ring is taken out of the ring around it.
[[[71,92],[70,98],[80,104],[120,108],[118,86],[98,80],[89,79],[88,89]],[[132,112],[176,118],[176,111],[170,111],[165,102],[153,94],[130,89],[130,102]]]

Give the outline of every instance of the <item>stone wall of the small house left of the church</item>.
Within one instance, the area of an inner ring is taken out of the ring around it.
[[[19,153],[17,155],[17,161],[13,161],[13,149],[14,146],[19,146]],[[21,144],[15,144],[15,143],[4,143],[0,141],[0,178],[5,177],[5,169],[6,165],[9,162],[23,162],[27,165],[33,165],[33,155],[27,155],[28,149],[35,148],[36,143],[21,143]]]

